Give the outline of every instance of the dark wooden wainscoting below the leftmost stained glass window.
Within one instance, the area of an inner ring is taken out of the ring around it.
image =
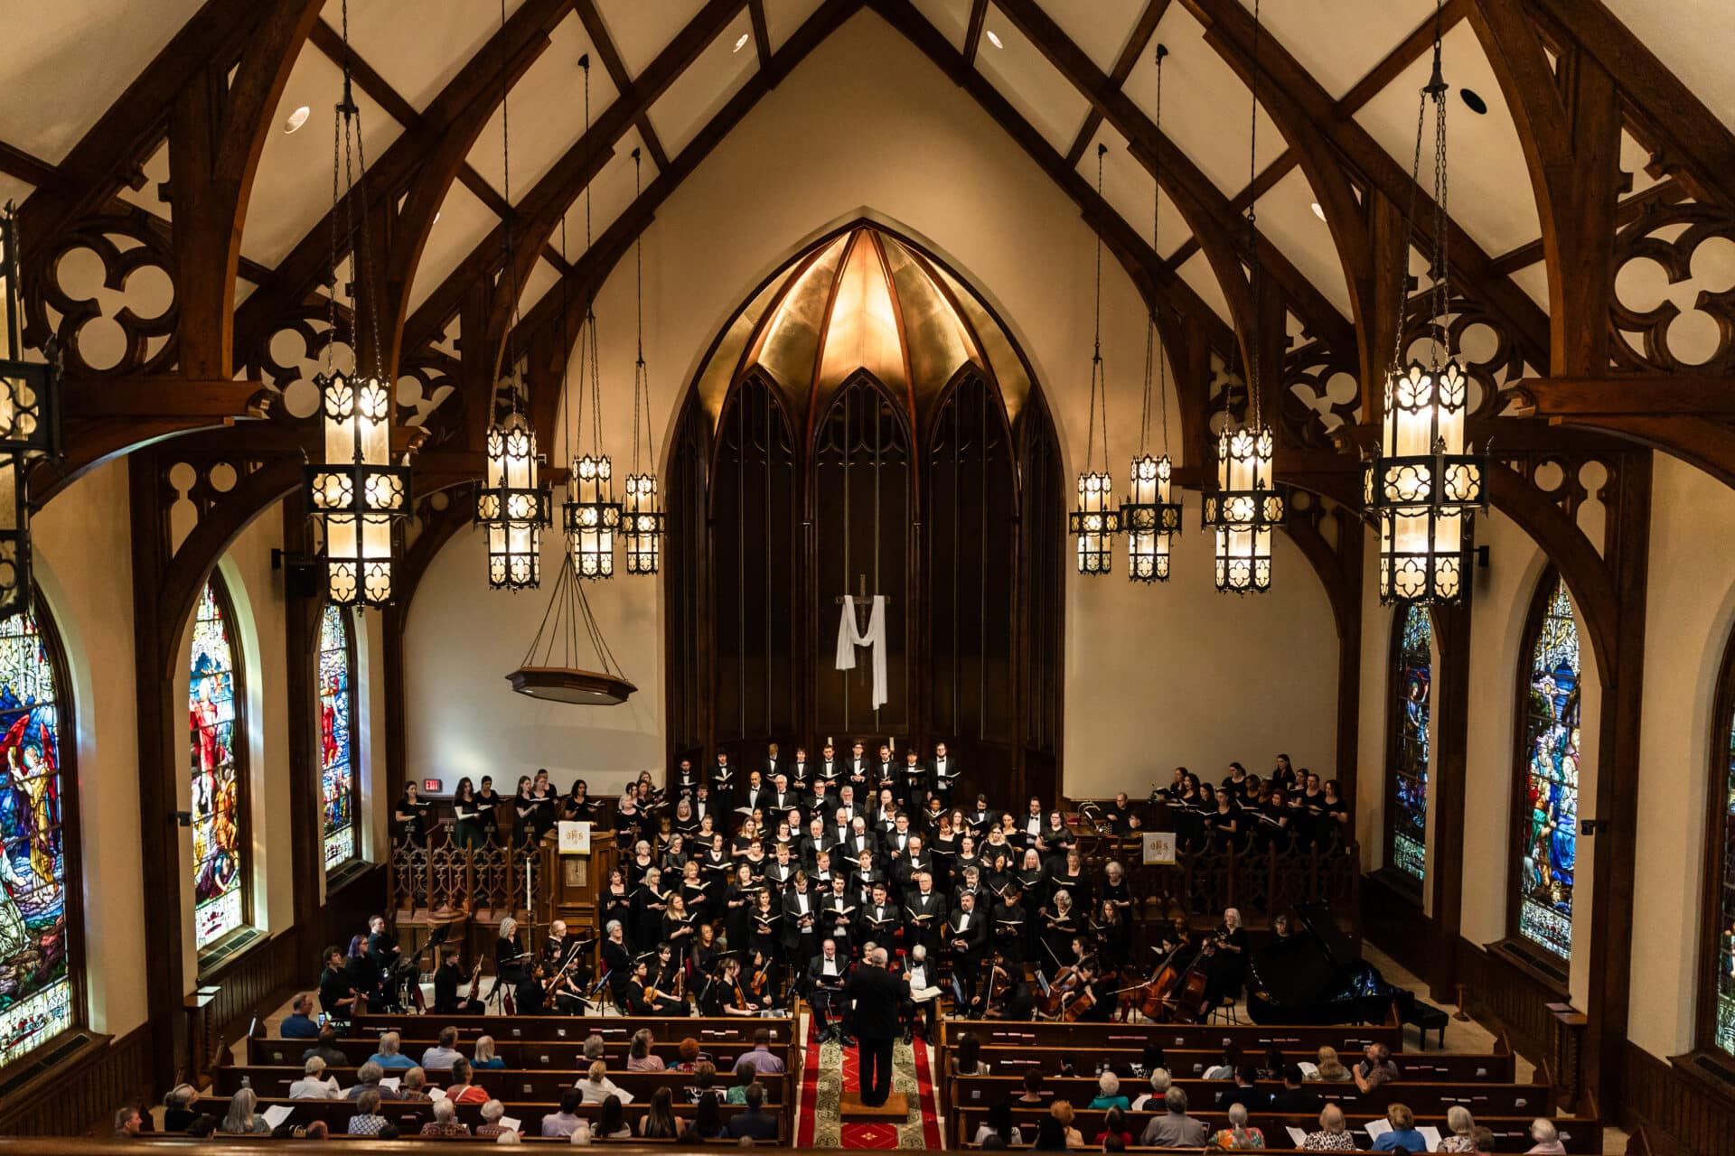
[[[7,1092],[0,1135],[108,1135],[113,1113],[151,1095],[151,1028],[95,1036],[64,1062]]]

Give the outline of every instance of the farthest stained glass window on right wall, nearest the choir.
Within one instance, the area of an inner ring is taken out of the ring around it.
[[[1391,773],[1386,794],[1386,861],[1417,884],[1428,865],[1428,718],[1433,686],[1433,619],[1405,607],[1391,671]]]

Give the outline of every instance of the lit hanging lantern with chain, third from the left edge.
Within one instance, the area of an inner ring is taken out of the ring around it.
[[[505,3],[500,7],[500,26],[505,28]],[[500,57],[500,196],[512,205],[512,113],[507,85],[505,49]],[[541,458],[536,454],[536,430],[519,409],[527,400],[527,383],[519,360],[512,354],[512,334],[517,331],[519,284],[517,265],[512,260],[512,213],[500,225],[501,260],[512,277],[512,328],[507,329],[503,362],[505,390],[510,412],[496,418],[488,428],[488,478],[475,494],[475,525],[488,534],[488,584],[493,589],[536,589],[541,586],[541,532],[553,522],[553,494],[538,485]],[[498,392],[496,392],[498,393]],[[496,397],[498,407],[498,397]],[[498,412],[498,409],[494,411]]]

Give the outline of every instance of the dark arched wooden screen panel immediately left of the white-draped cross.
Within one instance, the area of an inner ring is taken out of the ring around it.
[[[717,742],[798,726],[802,475],[770,388],[748,378],[718,430],[711,470]]]

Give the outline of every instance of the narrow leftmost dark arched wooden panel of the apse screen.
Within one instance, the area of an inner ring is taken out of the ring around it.
[[[699,688],[704,671],[706,471],[711,432],[697,399],[687,402],[675,428],[668,463],[668,735],[673,752],[704,744]]]

